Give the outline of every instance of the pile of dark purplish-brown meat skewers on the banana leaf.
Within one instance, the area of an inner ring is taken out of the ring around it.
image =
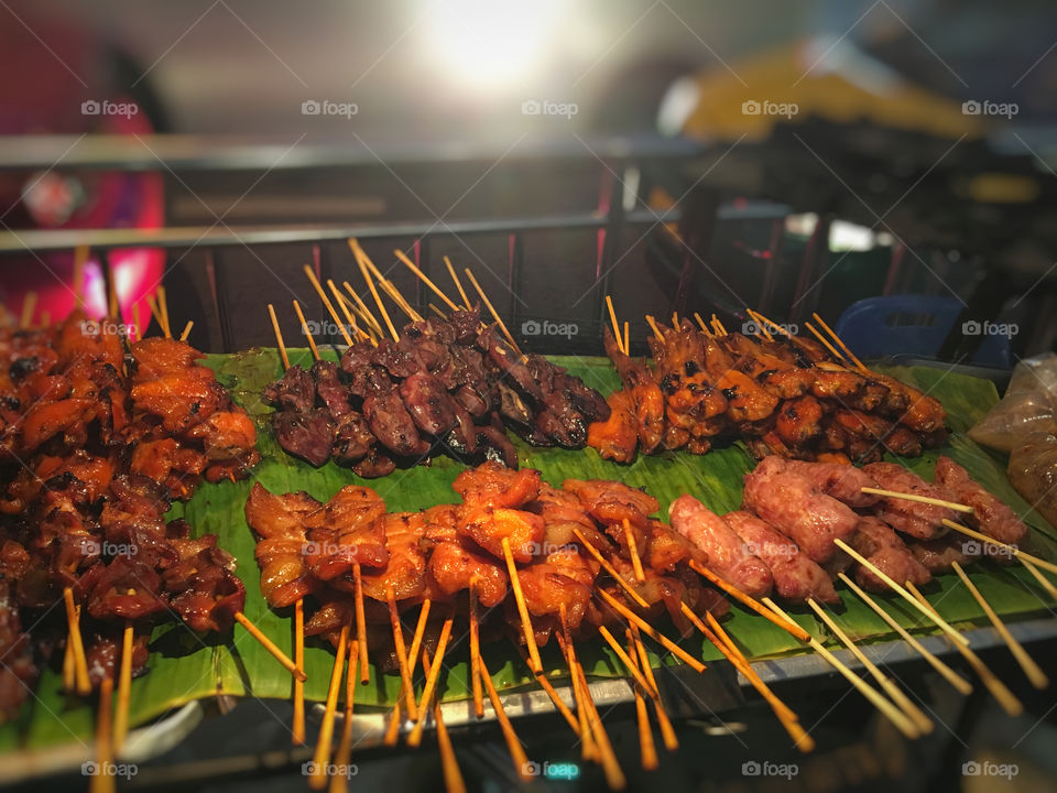
[[[288,453],[314,466],[333,458],[369,478],[443,452],[467,461],[500,459],[516,468],[517,453],[504,426],[537,446],[580,448],[588,425],[609,416],[601,394],[582,380],[543,356],[522,355],[498,315],[495,324],[486,326],[479,305],[467,300],[459,306],[444,296],[450,314],[436,308],[437,317],[424,318],[362,248],[355,240],[350,245],[392,339],[348,282],[342,293],[328,281],[328,296],[306,265],[348,348],[340,366],[322,360],[294,301],[316,361],[306,370],[284,358],[285,373],[264,391],[265,401],[276,408],[276,438]],[[454,269],[451,275],[465,295]],[[469,270],[467,275],[492,309]],[[411,321],[399,332],[375,282]],[[270,311],[274,322],[274,308]]]

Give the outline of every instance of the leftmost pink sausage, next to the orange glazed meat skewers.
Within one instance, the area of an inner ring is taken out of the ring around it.
[[[707,555],[705,565],[742,591],[771,593],[771,568],[747,550],[745,542],[718,514],[693,496],[680,496],[668,508],[672,528]]]

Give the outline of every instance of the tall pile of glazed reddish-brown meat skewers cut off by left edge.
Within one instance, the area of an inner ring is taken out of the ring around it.
[[[80,311],[0,327],[0,718],[62,655],[68,693],[99,692],[101,752],[124,739],[155,624],[205,633],[239,621],[262,637],[217,536],[165,519],[201,480],[244,477],[257,433],[201,355],[171,337],[167,308],[155,315],[165,338],[131,339],[117,318]]]

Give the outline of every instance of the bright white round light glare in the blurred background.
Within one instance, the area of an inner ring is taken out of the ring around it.
[[[451,0],[434,14],[442,63],[480,87],[511,86],[540,65],[557,0]]]

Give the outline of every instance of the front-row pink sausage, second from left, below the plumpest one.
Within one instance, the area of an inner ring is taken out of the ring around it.
[[[813,597],[824,604],[840,602],[826,572],[787,536],[750,512],[729,512],[723,521],[749,551],[767,564],[774,577],[774,590],[783,600],[804,602]]]

